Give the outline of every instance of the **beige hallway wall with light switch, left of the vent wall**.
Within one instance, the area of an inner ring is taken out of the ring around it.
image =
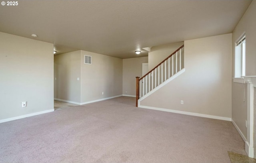
[[[81,103],[81,51],[54,55],[54,98]]]

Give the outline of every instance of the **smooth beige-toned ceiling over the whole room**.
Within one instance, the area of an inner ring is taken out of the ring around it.
[[[0,5],[0,31],[54,43],[58,54],[142,57],[143,47],[231,33],[251,1],[19,0]]]

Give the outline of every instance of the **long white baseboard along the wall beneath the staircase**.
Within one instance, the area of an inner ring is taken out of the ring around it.
[[[226,120],[226,121],[231,121],[231,118],[228,117],[220,117],[220,116],[212,116],[208,114],[200,114],[200,113],[193,113],[193,112],[184,112],[184,111],[179,111],[179,110],[171,110],[171,109],[164,109],[164,108],[156,108],[156,107],[151,107],[151,106],[138,106],[139,108],[145,108],[145,109],[152,109],[152,110],[160,110],[164,112],[172,112],[172,113],[178,113],[178,114],[186,114],[190,116],[198,116],[198,117],[204,117],[204,118],[212,118],[212,119],[217,119],[217,120]]]

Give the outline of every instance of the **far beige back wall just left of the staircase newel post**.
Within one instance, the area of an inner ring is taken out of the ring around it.
[[[142,77],[142,63],[148,57],[123,59],[123,94],[136,96],[136,77]]]

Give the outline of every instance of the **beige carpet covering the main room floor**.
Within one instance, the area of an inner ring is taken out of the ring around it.
[[[136,108],[118,97],[0,124],[0,163],[230,163],[231,122]]]

